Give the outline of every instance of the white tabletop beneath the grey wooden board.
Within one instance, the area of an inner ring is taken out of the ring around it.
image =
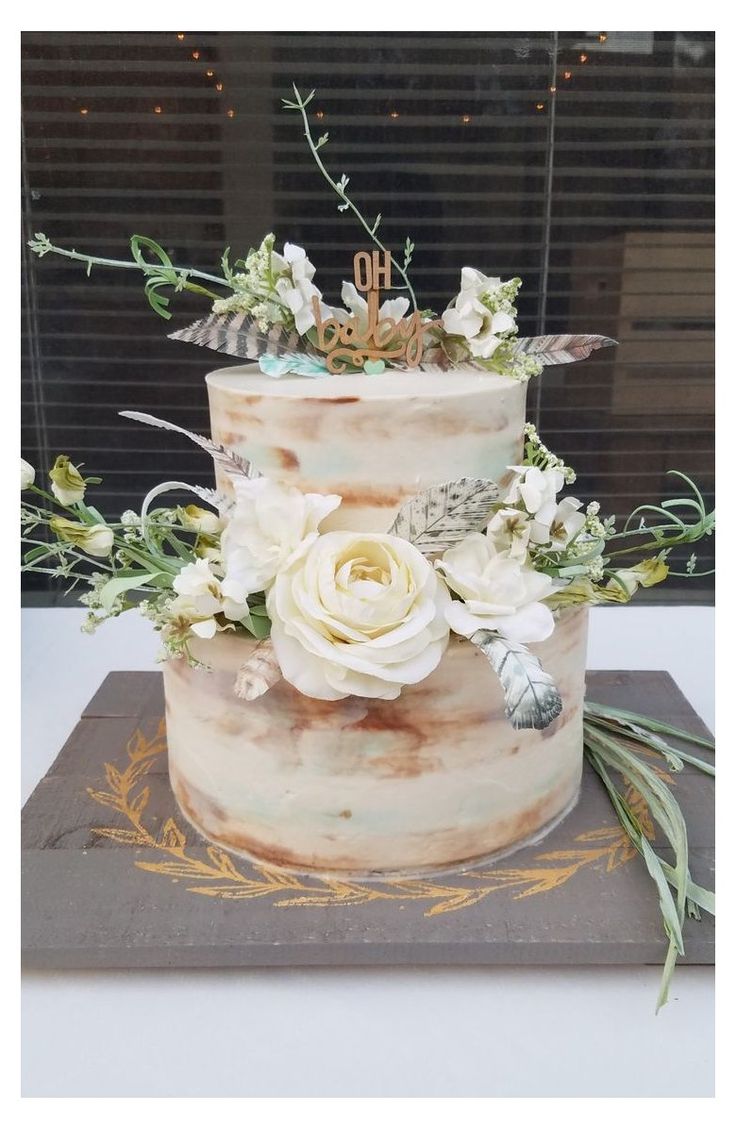
[[[134,613],[23,613],[23,798],[108,671],[155,669]],[[669,671],[713,725],[708,607],[592,614],[588,667]],[[686,640],[686,646],[683,646]],[[271,969],[24,977],[26,1097],[684,1097],[713,1092],[709,969]]]

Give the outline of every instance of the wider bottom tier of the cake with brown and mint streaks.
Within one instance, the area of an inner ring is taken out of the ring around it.
[[[290,868],[395,875],[508,851],[577,798],[586,642],[576,610],[533,646],[563,700],[535,732],[511,728],[496,675],[465,640],[395,701],[336,702],[286,682],[243,701],[233,684],[253,644],[198,641],[211,669],[164,666],[174,794],[212,842]]]

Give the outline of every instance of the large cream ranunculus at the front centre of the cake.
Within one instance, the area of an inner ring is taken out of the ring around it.
[[[397,698],[447,646],[449,593],[424,557],[388,533],[325,533],[280,572],[266,606],[283,677],[336,701]]]

